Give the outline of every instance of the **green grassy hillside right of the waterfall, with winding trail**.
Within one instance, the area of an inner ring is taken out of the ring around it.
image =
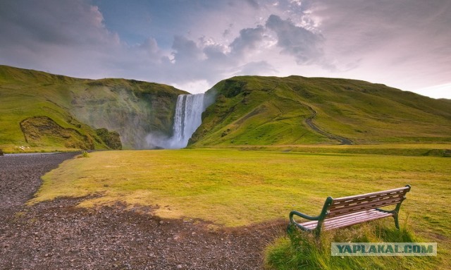
[[[207,93],[194,146],[451,141],[449,100],[360,80],[242,76]]]

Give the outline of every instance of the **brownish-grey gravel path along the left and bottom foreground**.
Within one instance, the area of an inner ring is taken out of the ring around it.
[[[73,156],[0,157],[0,269],[262,269],[264,246],[284,231],[283,221],[211,231],[72,198],[26,207],[40,176]]]

